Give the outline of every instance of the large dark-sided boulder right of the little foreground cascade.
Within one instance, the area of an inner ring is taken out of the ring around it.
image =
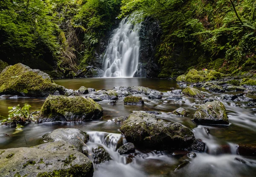
[[[120,131],[136,147],[187,148],[194,141],[192,131],[177,122],[165,122],[156,115],[134,111],[122,123]]]

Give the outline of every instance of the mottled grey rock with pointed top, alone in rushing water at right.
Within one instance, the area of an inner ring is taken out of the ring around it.
[[[198,124],[229,124],[226,108],[219,101],[206,102],[199,106],[194,114],[193,121]]]

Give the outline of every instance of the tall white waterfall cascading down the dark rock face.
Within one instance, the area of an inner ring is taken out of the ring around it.
[[[104,77],[133,77],[138,68],[141,23],[122,19],[113,31],[104,55]]]

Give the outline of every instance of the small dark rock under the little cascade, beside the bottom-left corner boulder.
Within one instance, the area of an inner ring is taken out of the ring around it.
[[[111,160],[111,156],[103,147],[93,149],[93,163],[100,164]]]

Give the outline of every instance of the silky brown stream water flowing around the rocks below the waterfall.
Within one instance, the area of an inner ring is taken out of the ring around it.
[[[113,160],[95,166],[94,177],[170,177],[170,176],[255,176],[256,159],[255,157],[242,157],[236,155],[236,145],[239,143],[256,145],[256,112],[240,103],[241,107],[236,107],[234,102],[222,100],[223,93],[208,93],[201,89],[207,98],[220,100],[224,103],[229,126],[202,126],[195,125],[191,121],[195,113],[196,106],[203,104],[201,99],[193,99],[183,96],[180,101],[167,101],[170,95],[167,91],[171,87],[179,88],[174,81],[154,80],[148,78],[86,78],[86,79],[61,79],[55,81],[70,89],[78,89],[81,86],[93,87],[96,90],[113,89],[115,86],[144,86],[152,89],[161,90],[163,99],[151,100],[145,95],[140,95],[145,101],[145,105],[124,105],[123,100],[117,100],[116,105],[108,104],[110,101],[99,102],[104,109],[102,119],[84,122],[53,122],[44,124],[29,124],[23,132],[12,134],[14,128],[6,126],[0,127],[0,148],[16,148],[34,146],[42,143],[42,136],[56,128],[79,128],[88,132],[90,142],[87,145],[90,149],[96,146],[103,146],[111,154]],[[29,103],[32,110],[38,110],[45,99],[0,99],[0,115],[7,116],[9,106]],[[173,116],[168,113],[184,107],[188,116]],[[134,110],[157,110],[161,114],[160,119],[166,121],[180,122],[190,128],[196,138],[201,139],[207,144],[205,153],[198,153],[195,159],[186,157],[186,153],[175,154],[163,151],[145,151],[136,149],[137,155],[128,160],[128,156],[119,155],[115,145],[120,137],[117,125],[113,119],[119,116],[128,116]],[[209,128],[208,134],[205,128]],[[3,134],[6,133],[6,134]],[[111,146],[107,146],[106,137],[111,139]],[[26,142],[25,142],[26,139]],[[84,147],[86,148],[86,147]],[[236,161],[239,157],[245,160],[246,164]],[[185,160],[189,164],[184,168],[174,171],[177,165]]]

